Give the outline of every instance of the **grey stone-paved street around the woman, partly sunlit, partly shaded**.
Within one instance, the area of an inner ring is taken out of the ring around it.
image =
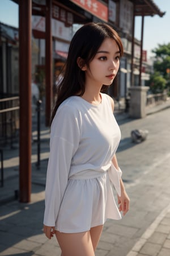
[[[163,109],[170,114],[169,107],[170,102],[167,101],[163,105],[147,109],[147,114],[158,113]],[[144,122],[144,119],[133,121],[126,113],[116,113],[115,115],[122,127],[123,138],[127,125],[133,129],[138,122],[140,125]],[[158,118],[160,120],[161,114]],[[149,121],[154,122],[152,119],[150,118]],[[56,239],[47,240],[42,233],[45,175],[49,155],[49,128],[44,127],[41,123],[41,163],[40,168],[37,168],[35,127],[36,124],[33,123],[32,194],[29,204],[19,203],[16,200],[19,188],[18,142],[14,142],[12,148],[9,145],[3,148],[5,180],[4,186],[0,188],[0,255],[3,256],[47,256],[52,254],[59,256],[61,254]],[[155,136],[156,134],[152,135],[153,139]],[[150,150],[148,152],[152,154],[154,144],[147,141],[145,143],[126,151],[126,145],[122,144],[121,149],[124,150],[124,154],[135,152],[137,158],[138,153],[140,154],[147,146],[147,150]],[[123,162],[121,152],[118,152],[117,157],[118,162],[121,160],[125,166],[131,164],[128,160]],[[133,161],[133,170],[137,167],[138,161]],[[169,166],[170,151],[158,162],[148,166],[149,171],[139,175],[135,182],[128,183],[128,176],[125,174],[125,187],[131,199],[131,209],[122,220],[108,220],[105,223],[96,256],[170,255]]]

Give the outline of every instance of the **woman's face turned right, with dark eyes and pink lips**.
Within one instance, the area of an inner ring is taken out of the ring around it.
[[[107,38],[101,44],[89,68],[85,65],[86,85],[111,85],[120,66],[120,50],[115,40]]]

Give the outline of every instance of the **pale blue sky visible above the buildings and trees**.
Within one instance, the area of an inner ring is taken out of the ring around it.
[[[170,43],[170,1],[152,0],[159,7],[160,11],[165,11],[165,15],[160,18],[158,15],[145,16],[143,30],[143,49],[147,50],[148,57],[152,56],[151,50],[157,48],[159,44]],[[141,16],[135,18],[135,38],[141,40]],[[11,0],[0,0],[0,22],[10,26],[18,27],[18,5]]]

